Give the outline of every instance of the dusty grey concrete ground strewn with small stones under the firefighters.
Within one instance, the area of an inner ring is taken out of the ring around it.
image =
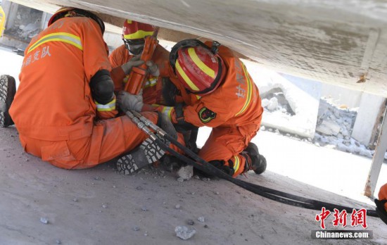
[[[0,128],[0,139],[0,244],[387,244],[387,226],[378,218],[367,219],[372,240],[313,240],[318,211],[270,201],[224,180],[177,182],[160,168],[125,176],[113,163],[62,170],[24,153],[15,127]],[[250,172],[248,181],[353,204],[274,172]],[[183,241],[177,225],[196,234]]]

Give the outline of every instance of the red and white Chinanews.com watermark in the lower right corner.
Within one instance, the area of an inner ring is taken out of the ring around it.
[[[334,227],[361,227],[362,230],[326,230],[325,222],[332,215],[332,225]],[[312,239],[372,239],[372,231],[367,229],[367,211],[362,208],[356,210],[353,208],[350,213],[350,222],[348,222],[347,211],[339,211],[334,208],[334,213],[322,208],[321,213],[318,213],[315,220],[319,222],[322,230],[312,230]]]

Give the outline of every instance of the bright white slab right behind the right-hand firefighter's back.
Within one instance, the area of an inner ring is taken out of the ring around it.
[[[264,111],[262,125],[313,138],[321,97],[321,83],[301,77],[279,74],[250,61],[243,60],[243,63],[245,63],[248,73],[260,89],[260,94],[265,94],[273,88],[281,89],[295,113],[295,115],[284,115],[279,111],[274,113]]]

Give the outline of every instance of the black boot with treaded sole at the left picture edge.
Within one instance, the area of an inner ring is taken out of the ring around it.
[[[16,93],[15,78],[10,75],[0,75],[0,126],[8,127],[13,125],[8,110]]]

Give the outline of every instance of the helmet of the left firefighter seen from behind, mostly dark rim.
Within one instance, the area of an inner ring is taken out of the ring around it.
[[[105,24],[99,18],[97,15],[94,15],[94,13],[91,13],[89,11],[84,11],[80,8],[73,8],[73,7],[62,7],[59,8],[51,18],[49,19],[48,26],[50,26],[52,23],[56,22],[56,20],[59,20],[60,18],[65,17],[74,17],[74,16],[83,16],[87,18],[93,19],[96,23],[98,23],[99,27],[101,27],[102,34],[105,32]]]

